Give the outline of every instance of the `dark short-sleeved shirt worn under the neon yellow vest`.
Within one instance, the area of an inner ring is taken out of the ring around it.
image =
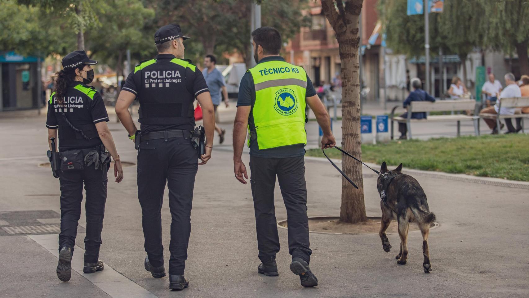
[[[259,60],[259,63],[268,61],[285,61],[281,56],[269,56]],[[311,79],[307,75],[307,88],[305,97],[311,97],[316,95],[316,90],[312,84]],[[239,97],[237,98],[237,106],[249,106],[256,100],[256,86],[253,84],[253,77],[250,71],[247,71],[241,79],[239,85]],[[250,119],[252,121],[252,114],[250,113]],[[259,150],[259,146],[256,141],[250,143],[250,155],[255,157],[266,157],[266,158],[286,158],[286,157],[299,157],[305,155],[305,146],[303,144],[296,144],[290,146],[283,146],[279,148],[270,148]]]

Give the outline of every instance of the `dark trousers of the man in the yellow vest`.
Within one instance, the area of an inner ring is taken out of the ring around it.
[[[267,262],[276,258],[279,251],[276,212],[273,192],[276,176],[288,221],[288,252],[307,261],[311,259],[307,217],[307,186],[305,182],[305,159],[261,158],[250,156],[250,183],[253,206],[256,213],[257,247],[259,259]]]

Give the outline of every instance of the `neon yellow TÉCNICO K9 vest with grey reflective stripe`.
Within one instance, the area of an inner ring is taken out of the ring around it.
[[[252,124],[256,130],[259,150],[306,145],[305,70],[285,61],[267,61],[248,71],[256,87]],[[249,138],[248,147],[250,141]]]

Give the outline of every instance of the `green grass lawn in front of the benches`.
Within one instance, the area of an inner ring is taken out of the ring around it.
[[[325,152],[331,158],[342,158],[336,149]],[[307,155],[324,157],[320,149],[307,150]],[[402,162],[404,167],[420,170],[529,181],[529,136],[503,134],[366,144],[362,145],[362,160],[379,165],[382,161],[388,165]]]

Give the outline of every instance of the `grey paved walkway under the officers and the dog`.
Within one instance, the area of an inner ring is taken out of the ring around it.
[[[231,130],[234,110],[234,104],[228,110],[220,110],[221,125],[226,129]],[[44,116],[0,119],[5,128],[0,131],[0,138],[10,140],[0,143],[2,212],[60,212],[59,182],[49,169],[37,166],[47,161],[44,122]],[[122,125],[111,121],[109,126],[122,160],[135,162],[136,152]],[[129,297],[527,296],[527,189],[443,179],[429,175],[430,172],[410,171],[424,188],[430,209],[440,223],[430,233],[432,274],[423,273],[422,238],[418,232],[409,234],[408,264],[402,266],[395,260],[398,235],[388,236],[393,249],[386,253],[376,235],[313,233],[311,268],[320,284],[316,288],[303,288],[299,278],[288,269],[285,229],[279,229],[282,246],[277,256],[279,277],[257,274],[259,259],[250,185],[242,185],[233,177],[231,133],[226,136],[223,145],[215,145],[211,161],[198,170],[186,267],[190,287],[182,292],[170,292],[167,277],[154,279],[143,269],[145,252],[135,167],[124,168],[125,178],[120,184],[109,179],[99,258],[147,291]],[[243,161],[248,166],[247,153]],[[308,215],[338,216],[340,173],[324,161],[307,158],[306,180]],[[376,177],[368,169],[364,170],[363,187],[368,215],[380,216]],[[275,195],[276,218],[284,220],[286,210],[279,187]],[[84,222],[83,208],[80,224]],[[2,227],[0,231],[4,231]],[[170,227],[167,192],[162,227],[167,267]],[[77,245],[81,248],[84,237],[80,230]],[[53,246],[53,240],[49,243]],[[78,274],[72,274],[69,283],[59,282],[55,277],[56,257],[24,234],[0,234],[0,251],[0,264],[4,267],[0,275],[2,298],[107,295],[97,283]],[[112,296],[118,294],[114,292]]]

